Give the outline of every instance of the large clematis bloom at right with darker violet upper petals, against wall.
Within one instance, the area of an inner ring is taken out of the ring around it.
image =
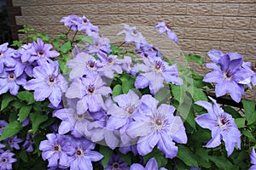
[[[212,68],[213,71],[208,73],[203,81],[204,82],[216,82],[215,94],[217,97],[230,93],[230,96],[237,103],[241,100],[241,95],[244,94],[243,84],[250,82],[250,77],[253,76],[253,71],[247,71],[242,68],[243,59],[241,54],[229,53],[221,55],[218,59],[212,53],[212,59],[218,63],[206,65],[208,68]]]

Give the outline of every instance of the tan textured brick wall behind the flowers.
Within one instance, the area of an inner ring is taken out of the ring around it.
[[[256,65],[256,0],[12,0],[20,6],[17,25],[30,25],[36,31],[55,36],[67,27],[62,16],[87,16],[97,26],[128,23],[154,26],[165,20],[179,38],[184,54],[200,54],[207,61],[212,48],[243,54]],[[102,30],[113,36],[118,30]],[[148,31],[146,37],[152,32]],[[22,35],[20,35],[22,38]],[[166,40],[158,41],[165,47]],[[168,50],[165,48],[164,50]],[[199,72],[207,70],[191,64]],[[255,89],[248,93],[255,98]]]

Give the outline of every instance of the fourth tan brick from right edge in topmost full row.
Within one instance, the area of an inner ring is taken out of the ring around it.
[[[163,14],[186,14],[186,3],[163,3]]]

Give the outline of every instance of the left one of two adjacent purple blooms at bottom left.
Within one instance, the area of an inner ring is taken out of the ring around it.
[[[71,149],[69,138],[55,133],[48,133],[46,138],[41,141],[39,150],[42,150],[44,161],[49,161],[48,167],[69,167],[67,156],[67,151]]]

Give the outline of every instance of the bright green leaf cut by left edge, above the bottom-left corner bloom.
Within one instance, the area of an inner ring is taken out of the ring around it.
[[[11,136],[14,136],[15,134],[19,133],[21,129],[22,126],[20,122],[9,122],[9,124],[3,129],[3,133],[0,136],[0,141],[3,139],[7,139]]]

